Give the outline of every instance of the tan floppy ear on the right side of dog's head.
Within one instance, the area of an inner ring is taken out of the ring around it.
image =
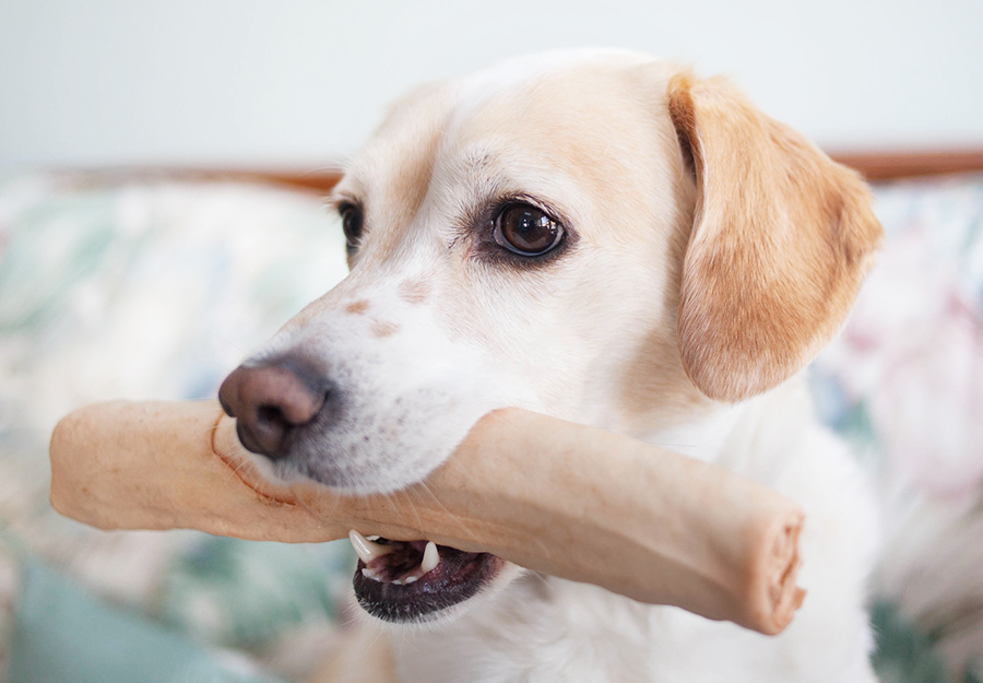
[[[697,184],[683,262],[683,365],[739,401],[836,333],[880,244],[866,186],[723,80],[674,78],[668,108]]]

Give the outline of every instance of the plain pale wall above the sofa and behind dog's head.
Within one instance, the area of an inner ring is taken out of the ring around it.
[[[0,169],[313,165],[418,82],[585,45],[731,74],[827,148],[983,145],[983,0],[0,0]]]

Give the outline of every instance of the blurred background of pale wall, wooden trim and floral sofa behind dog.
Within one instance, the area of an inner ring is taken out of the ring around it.
[[[888,239],[814,393],[890,510],[878,673],[983,680],[981,36],[979,0],[0,0],[0,681],[342,680],[345,543],[78,525],[50,431],[213,398],[342,279],[323,195],[394,97],[587,46],[730,75],[876,181]]]

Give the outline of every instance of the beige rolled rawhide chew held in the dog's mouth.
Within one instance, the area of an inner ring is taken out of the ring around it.
[[[55,508],[102,529],[426,539],[766,634],[805,594],[795,585],[803,514],[784,496],[519,409],[486,415],[424,484],[388,496],[270,484],[213,401],[84,408],[56,427],[51,470]]]

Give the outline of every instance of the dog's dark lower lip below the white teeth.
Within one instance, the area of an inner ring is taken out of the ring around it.
[[[427,622],[439,613],[476,596],[505,565],[489,553],[465,553],[438,546],[440,565],[413,584],[400,586],[376,581],[362,574],[359,561],[353,585],[355,598],[366,612],[396,624]]]

